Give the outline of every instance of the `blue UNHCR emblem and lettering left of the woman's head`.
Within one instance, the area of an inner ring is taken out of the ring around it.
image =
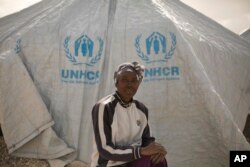
[[[93,69],[96,69],[95,66],[101,59],[103,52],[103,40],[98,37],[96,41],[93,41],[89,36],[82,35],[75,41],[71,42],[70,36],[67,36],[64,39],[63,47],[65,57],[74,66],[70,69],[61,69],[61,80],[66,83],[98,83],[100,71]],[[92,70],[81,70],[79,66],[88,66],[93,68],[88,68]],[[77,67],[77,69],[74,67]]]

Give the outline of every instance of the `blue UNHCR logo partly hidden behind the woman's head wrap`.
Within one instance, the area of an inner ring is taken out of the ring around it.
[[[142,34],[136,36],[136,53],[147,64],[144,81],[179,79],[180,68],[167,66],[167,62],[174,57],[176,45],[176,35],[172,32],[168,36],[153,32],[144,40]]]

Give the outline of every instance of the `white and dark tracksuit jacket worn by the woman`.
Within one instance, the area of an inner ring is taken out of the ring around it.
[[[92,110],[94,147],[91,167],[116,166],[141,157],[150,136],[148,109],[137,100],[122,105],[117,93],[101,99]]]

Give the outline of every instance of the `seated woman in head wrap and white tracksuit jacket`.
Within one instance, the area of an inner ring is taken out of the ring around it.
[[[121,64],[114,74],[114,94],[92,110],[95,134],[91,167],[167,167],[165,148],[150,136],[148,109],[135,99],[144,67]]]

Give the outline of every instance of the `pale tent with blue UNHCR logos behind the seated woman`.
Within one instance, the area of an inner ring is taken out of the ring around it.
[[[250,150],[249,43],[180,1],[43,1],[1,19],[0,32],[0,123],[12,155],[89,163],[92,106],[131,61],[146,67],[135,98],[169,166],[222,167],[230,150]]]

